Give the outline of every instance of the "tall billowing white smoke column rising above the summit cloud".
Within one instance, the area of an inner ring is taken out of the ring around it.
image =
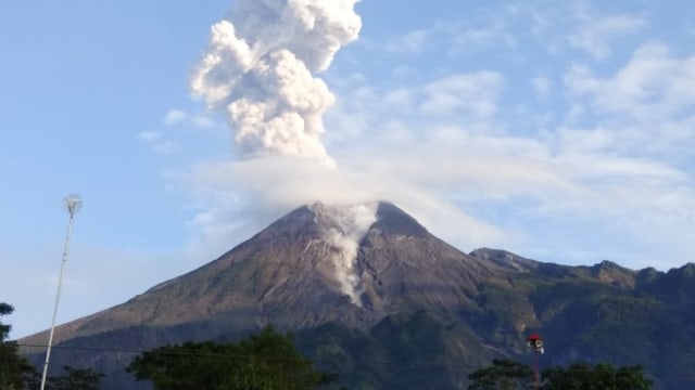
[[[237,0],[213,25],[191,90],[226,108],[240,153],[328,158],[321,116],[334,96],[314,75],[357,39],[357,1]]]

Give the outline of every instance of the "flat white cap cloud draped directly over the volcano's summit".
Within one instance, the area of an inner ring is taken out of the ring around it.
[[[264,220],[255,217],[261,210],[262,214],[277,218],[299,205],[316,200],[327,204],[390,200],[429,227],[433,225],[430,222],[446,216],[448,225],[458,227],[448,231],[447,236],[459,236],[469,245],[476,240],[501,245],[503,237],[514,236],[505,235],[470,216],[435,191],[422,191],[428,182],[421,177],[426,167],[418,166],[415,159],[406,165],[407,159],[402,157],[397,157],[399,162],[394,165],[391,160],[393,157],[390,155],[386,160],[363,154],[363,158],[355,161],[357,164],[352,165],[348,160],[338,167],[289,157],[206,164],[189,172],[186,180],[189,187],[204,188],[198,193],[204,199],[195,221],[205,229],[213,226],[214,232],[235,230],[239,227],[237,221],[240,220]],[[456,178],[460,179],[460,176]],[[227,200],[220,199],[236,200],[226,204]],[[249,199],[253,199],[253,203]],[[257,227],[257,224],[254,226]],[[438,233],[444,233],[445,229],[442,227],[439,226]]]

